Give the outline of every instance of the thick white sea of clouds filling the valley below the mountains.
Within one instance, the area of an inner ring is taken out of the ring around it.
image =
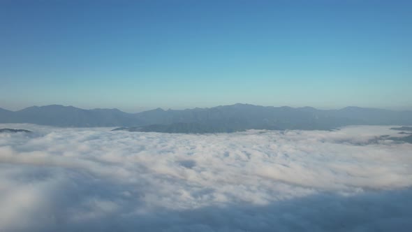
[[[391,126],[130,133],[0,124],[0,231],[411,231]]]

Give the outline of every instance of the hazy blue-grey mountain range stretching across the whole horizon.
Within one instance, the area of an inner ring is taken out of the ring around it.
[[[412,125],[412,111],[346,107],[318,110],[311,107],[255,106],[237,103],[213,108],[125,113],[118,109],[84,110],[73,106],[32,106],[10,111],[0,108],[0,123],[48,126],[122,126],[131,131],[214,133],[247,129],[334,129],[348,125]]]

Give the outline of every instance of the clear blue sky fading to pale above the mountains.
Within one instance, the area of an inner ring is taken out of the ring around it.
[[[412,109],[412,1],[0,1],[0,107]]]

